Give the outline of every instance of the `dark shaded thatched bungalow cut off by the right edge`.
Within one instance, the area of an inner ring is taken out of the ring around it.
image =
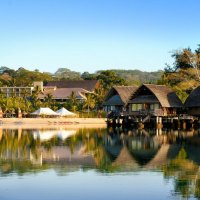
[[[191,92],[184,105],[189,115],[200,116],[200,86]]]

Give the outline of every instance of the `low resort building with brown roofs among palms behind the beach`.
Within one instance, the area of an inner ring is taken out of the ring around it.
[[[36,88],[41,91],[39,99],[43,101],[48,94],[56,102],[63,103],[70,99],[74,93],[77,100],[86,100],[88,93],[94,92],[99,87],[97,80],[81,80],[81,81],[50,81],[44,86],[42,81],[33,82],[33,87],[0,87],[0,94],[8,97],[29,97]]]

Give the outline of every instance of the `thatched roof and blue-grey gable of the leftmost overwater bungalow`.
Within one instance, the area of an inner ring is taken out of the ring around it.
[[[103,105],[123,106],[136,89],[136,86],[113,86],[107,93]]]

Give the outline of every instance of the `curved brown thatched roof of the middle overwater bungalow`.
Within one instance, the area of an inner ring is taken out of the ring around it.
[[[132,103],[132,101],[134,101],[134,98],[139,96],[139,91],[144,87],[148,89],[153,95],[155,95],[155,97],[160,102],[162,107],[173,107],[173,108],[182,107],[180,99],[171,88],[165,85],[154,85],[154,84],[143,84],[142,86],[140,86],[131,95],[129,103]]]

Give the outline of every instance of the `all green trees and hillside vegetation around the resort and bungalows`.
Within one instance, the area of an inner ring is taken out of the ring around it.
[[[100,82],[100,87],[94,94],[88,95],[85,103],[76,99],[72,92],[70,101],[64,103],[64,107],[73,112],[88,113],[101,109],[102,102],[108,90],[114,85],[140,85],[142,83],[165,84],[172,87],[180,99],[184,102],[189,93],[200,84],[200,45],[192,51],[190,48],[176,50],[172,53],[174,63],[167,65],[165,70],[157,72],[142,72],[140,70],[101,70],[90,74],[79,73],[67,68],[59,68],[55,73],[30,71],[24,68],[17,70],[8,67],[0,67],[0,86],[32,86],[34,81],[52,80],[91,80]],[[24,94],[24,97],[10,97],[4,99],[0,95],[0,105],[4,112],[16,112],[18,108],[30,112],[40,106],[48,106],[52,109],[60,108],[61,105],[52,100],[52,95],[47,94],[44,102],[38,99],[39,89],[32,96]],[[13,105],[11,105],[13,103]]]

